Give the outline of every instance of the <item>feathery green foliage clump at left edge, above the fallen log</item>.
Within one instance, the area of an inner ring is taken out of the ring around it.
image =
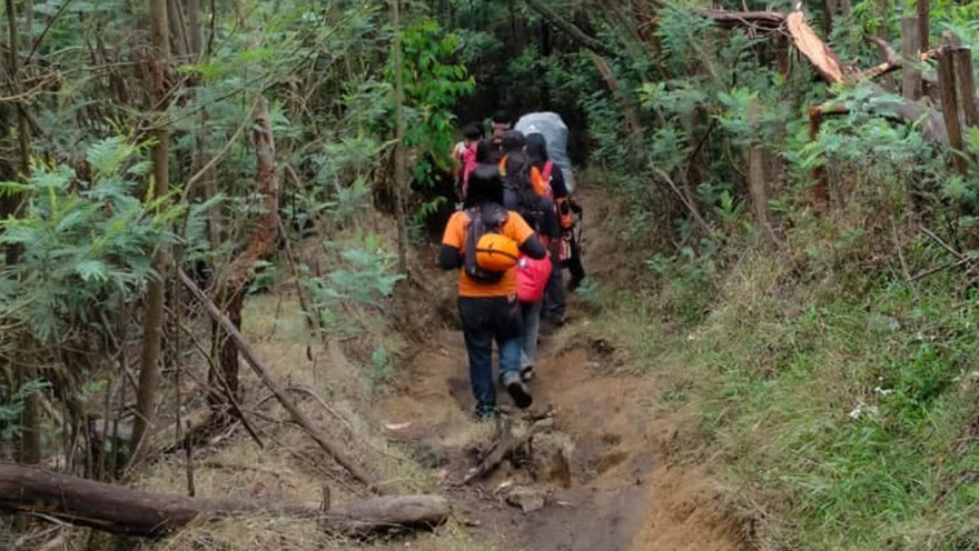
[[[110,138],[88,150],[91,181],[63,166],[34,167],[24,184],[7,182],[24,203],[20,218],[2,221],[0,243],[20,248],[20,261],[0,281],[12,292],[0,299],[0,319],[23,323],[42,343],[69,333],[72,323],[99,320],[139,298],[158,277],[152,252],[176,241],[167,228],[184,213],[169,198],[147,202],[134,174],[144,171],[142,148]]]

